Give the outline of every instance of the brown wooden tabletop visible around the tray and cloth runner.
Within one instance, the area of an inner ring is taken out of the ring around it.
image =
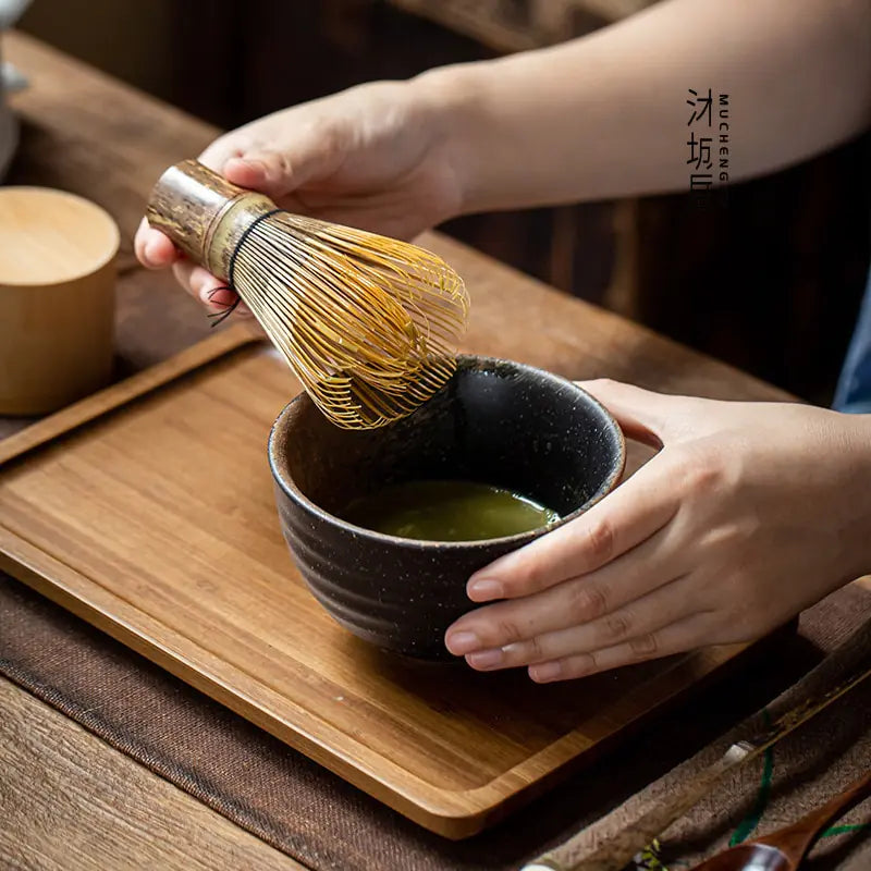
[[[121,225],[122,368],[143,368],[205,336],[199,306],[168,275],[136,263],[132,235],[160,172],[198,154],[217,131],[22,35],[9,36],[4,50],[32,81],[14,100],[24,128],[9,181],[83,194]],[[471,289],[478,346],[498,354],[504,338],[520,331],[530,347],[559,348],[568,376],[716,397],[784,397],[444,237],[428,244]],[[506,283],[523,289],[511,305]],[[14,426],[0,420],[0,436]],[[0,855],[12,848],[13,867],[303,868],[2,678],[0,712]]]

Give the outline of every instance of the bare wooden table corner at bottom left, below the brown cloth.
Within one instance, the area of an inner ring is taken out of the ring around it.
[[[4,871],[294,871],[225,820],[0,677]]]

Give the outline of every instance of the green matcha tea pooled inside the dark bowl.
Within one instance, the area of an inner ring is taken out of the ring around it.
[[[528,532],[560,519],[526,496],[475,481],[406,481],[355,500],[345,519],[400,538],[479,541]]]

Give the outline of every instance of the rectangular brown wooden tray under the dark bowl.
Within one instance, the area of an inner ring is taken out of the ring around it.
[[[236,327],[0,442],[0,568],[452,838],[744,649],[545,686],[371,649],[279,531],[266,440],[297,392]]]

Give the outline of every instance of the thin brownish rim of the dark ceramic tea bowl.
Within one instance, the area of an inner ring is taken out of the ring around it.
[[[331,512],[326,511],[320,505],[312,502],[303,491],[298,488],[296,482],[292,479],[285,479],[285,477],[279,471],[278,469],[278,447],[277,447],[277,434],[279,429],[282,425],[286,421],[287,415],[293,406],[295,406],[299,402],[311,402],[310,396],[306,391],[299,392],[296,396],[294,396],[279,413],[278,417],[275,418],[274,422],[272,424],[271,429],[269,430],[269,441],[268,441],[268,455],[269,455],[269,468],[272,473],[273,480],[279,484],[282,492],[293,502],[295,502],[299,507],[304,508],[305,511],[314,514],[320,520],[326,523],[332,524],[334,526],[339,526],[343,529],[346,529],[354,535],[361,536],[364,538],[370,539],[373,542],[383,542],[384,544],[391,544],[393,547],[404,547],[404,548],[414,548],[414,549],[432,549],[432,550],[459,550],[459,551],[469,551],[475,549],[483,549],[489,548],[492,545],[523,545],[525,543],[535,541],[537,538],[541,537],[542,535],[547,535],[552,532],[554,529],[559,529],[561,526],[564,526],[567,523],[579,517],[581,514],[588,512],[593,505],[598,502],[601,502],[610,492],[612,492],[617,482],[619,481],[621,476],[626,467],[626,438],[621,429],[619,424],[617,424],[614,416],[611,412],[605,408],[605,406],[599,402],[591,393],[584,390],[577,381],[572,381],[568,378],[564,378],[563,376],[556,375],[555,372],[551,372],[547,369],[540,369],[537,366],[531,366],[526,363],[519,363],[517,360],[510,360],[505,359],[504,357],[490,357],[483,354],[458,354],[457,355],[457,363],[461,361],[474,361],[474,364],[483,367],[507,367],[511,369],[520,370],[529,375],[536,376],[543,376],[544,378],[551,379],[552,381],[556,381],[563,387],[567,387],[571,391],[575,394],[580,394],[585,397],[590,405],[597,407],[603,417],[609,429],[612,431],[613,434],[616,436],[617,441],[617,456],[615,457],[615,462],[613,464],[612,469],[609,471],[608,476],[605,477],[604,481],[599,486],[597,491],[582,504],[579,505],[574,511],[569,512],[563,517],[560,517],[559,520],[554,520],[552,524],[548,524],[547,526],[539,526],[535,529],[529,529],[526,532],[515,532],[512,536],[501,536],[500,538],[486,538],[486,539],[469,539],[465,541],[433,541],[429,539],[418,539],[418,538],[404,538],[402,536],[391,536],[387,532],[378,532],[375,529],[368,529],[365,526],[357,526],[356,524],[352,524],[348,520],[345,520],[342,517],[339,517]],[[452,376],[453,377],[453,376]]]

